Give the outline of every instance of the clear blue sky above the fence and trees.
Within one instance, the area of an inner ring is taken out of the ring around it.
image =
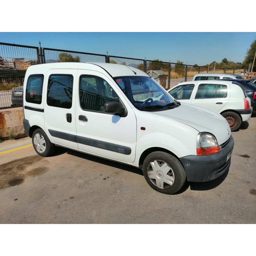
[[[205,65],[243,62],[256,32],[0,32],[0,42]]]

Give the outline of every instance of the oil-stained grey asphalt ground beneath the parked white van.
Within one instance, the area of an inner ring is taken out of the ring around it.
[[[30,138],[0,143],[0,224],[255,224],[256,113],[232,132],[229,171],[187,182],[175,195],[149,187],[140,169]]]

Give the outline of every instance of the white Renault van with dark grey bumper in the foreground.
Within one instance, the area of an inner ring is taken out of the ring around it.
[[[31,66],[23,102],[24,130],[40,156],[57,145],[129,164],[165,194],[176,193],[186,180],[214,180],[230,166],[234,140],[226,119],[180,103],[136,68]]]

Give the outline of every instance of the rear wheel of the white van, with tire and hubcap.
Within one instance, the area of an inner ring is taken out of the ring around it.
[[[55,145],[42,129],[36,129],[32,135],[33,147],[39,156],[50,156],[55,151]]]

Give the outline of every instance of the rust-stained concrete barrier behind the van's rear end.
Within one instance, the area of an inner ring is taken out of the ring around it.
[[[0,137],[12,137],[24,133],[23,109],[9,108],[0,112]]]

